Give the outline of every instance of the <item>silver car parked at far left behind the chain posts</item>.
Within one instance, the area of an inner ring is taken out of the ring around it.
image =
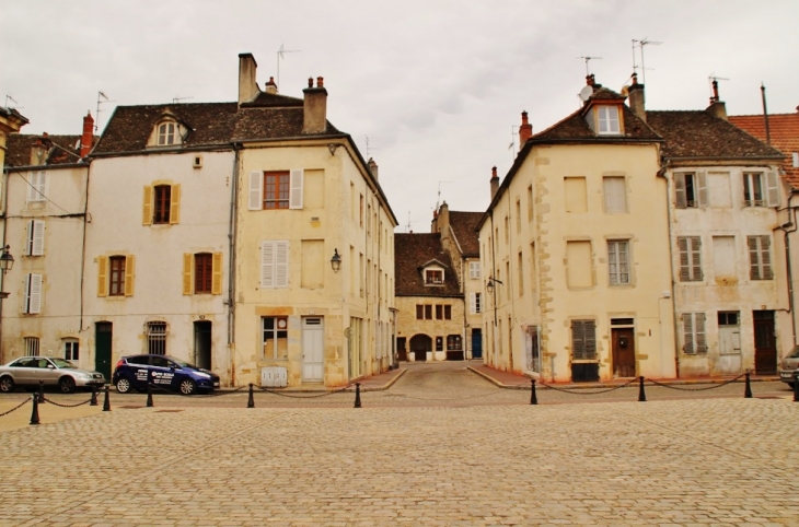
[[[58,386],[62,394],[71,394],[76,387],[103,386],[105,377],[100,372],[81,370],[69,361],[56,356],[23,356],[0,366],[0,391],[9,393],[14,386]]]

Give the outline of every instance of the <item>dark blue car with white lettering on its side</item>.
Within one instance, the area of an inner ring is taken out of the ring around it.
[[[119,394],[153,387],[192,395],[219,388],[219,375],[170,355],[129,355],[116,363],[112,382]]]

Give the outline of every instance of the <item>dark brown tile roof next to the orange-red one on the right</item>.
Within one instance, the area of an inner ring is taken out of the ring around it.
[[[665,139],[665,157],[764,159],[780,153],[705,110],[650,112],[647,124]]]

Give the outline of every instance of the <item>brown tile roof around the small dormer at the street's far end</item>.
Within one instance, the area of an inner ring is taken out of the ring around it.
[[[421,266],[438,260],[444,266],[443,286],[425,285]],[[463,296],[450,256],[439,233],[394,234],[394,292],[397,296]]]

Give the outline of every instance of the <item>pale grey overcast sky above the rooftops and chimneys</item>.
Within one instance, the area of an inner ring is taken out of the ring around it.
[[[590,71],[618,91],[634,40],[651,42],[635,54],[650,109],[706,107],[711,75],[731,115],[762,112],[761,82],[769,113],[799,105],[796,0],[0,0],[0,96],[25,133],[80,133],[99,91],[113,101],[101,130],[115,105],[235,101],[240,52],[263,86],[291,50],[280,93],[325,78],[328,119],[380,165],[397,232],[428,231],[439,200],[485,210],[521,112],[537,132],[578,108],[579,57],[601,57]]]

